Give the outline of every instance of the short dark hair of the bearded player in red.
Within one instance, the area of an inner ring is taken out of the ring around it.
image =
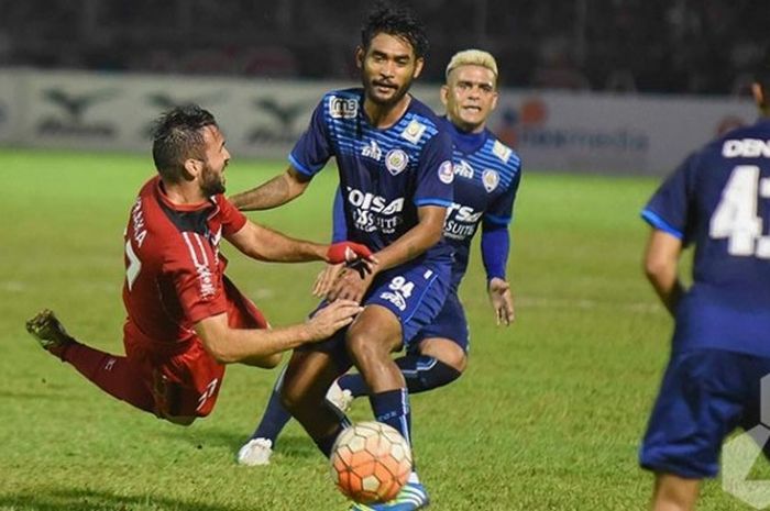
[[[205,157],[202,129],[217,126],[211,112],[185,104],[164,112],[153,125],[153,160],[161,177],[178,182],[187,158]]]

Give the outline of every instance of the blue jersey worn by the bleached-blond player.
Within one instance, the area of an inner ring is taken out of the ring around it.
[[[471,253],[471,240],[483,225],[486,232],[505,230],[505,255],[495,262],[502,266],[502,275],[488,277],[504,278],[507,258],[507,229],[510,223],[521,179],[521,160],[518,155],[499,142],[488,130],[480,134],[466,134],[447,119],[442,119],[446,130],[451,133],[454,162],[454,202],[449,209],[444,224],[444,237],[454,248],[452,288],[460,286]],[[493,249],[496,248],[494,244]],[[485,253],[488,253],[485,249]],[[485,263],[488,260],[485,257]],[[487,274],[491,274],[487,265]]]

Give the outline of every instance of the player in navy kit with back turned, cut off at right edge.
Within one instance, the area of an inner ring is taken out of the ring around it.
[[[675,319],[639,455],[656,474],[656,511],[694,509],[725,437],[760,422],[760,379],[770,374],[770,66],[752,90],[762,118],[686,158],[642,211],[652,226],[647,277]],[[685,289],[678,263],[688,245]]]

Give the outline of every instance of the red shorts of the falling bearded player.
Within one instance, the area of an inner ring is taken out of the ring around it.
[[[266,329],[267,321],[254,303],[224,280],[228,324],[233,329]],[[206,416],[211,413],[224,377],[224,366],[204,347],[196,335],[177,343],[150,340],[130,321],[123,329],[125,354],[138,378],[152,392],[155,414]]]

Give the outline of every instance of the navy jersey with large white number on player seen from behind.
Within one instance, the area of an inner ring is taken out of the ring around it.
[[[674,352],[770,357],[770,121],[735,130],[690,156],[642,216],[695,245]]]

